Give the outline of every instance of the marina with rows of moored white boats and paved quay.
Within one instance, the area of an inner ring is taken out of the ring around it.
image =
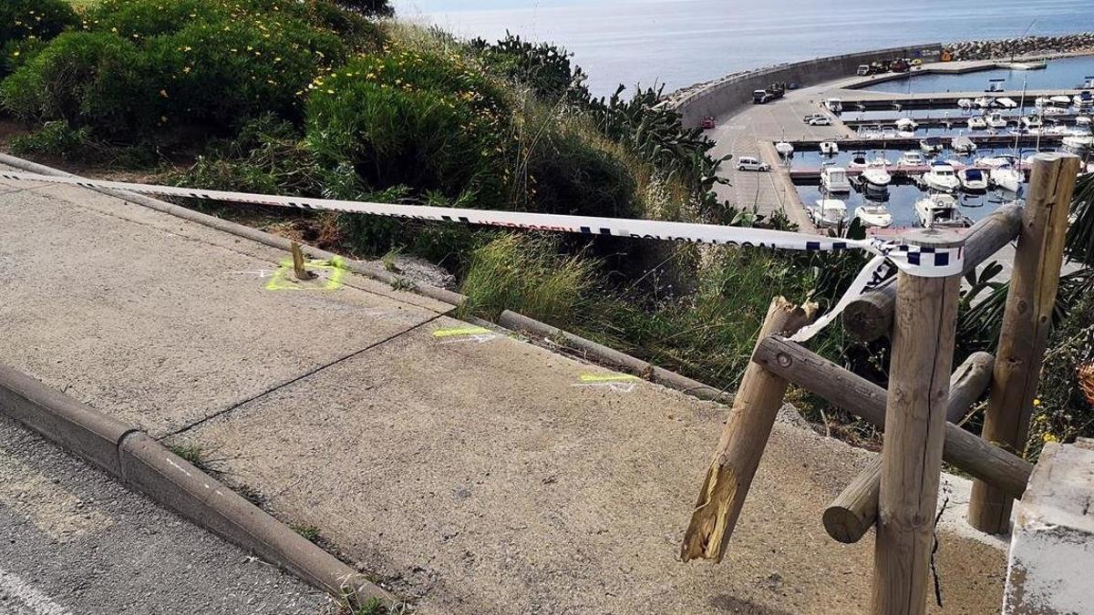
[[[964,228],[1023,197],[1033,154],[1089,159],[1094,147],[1094,100],[1083,88],[1094,85],[1094,57],[1015,62],[1028,66],[934,62],[922,73],[848,74],[754,104],[715,121],[711,136],[715,152],[755,156],[769,171],[732,172],[719,194],[764,216],[781,211],[806,232],[854,217],[880,234]],[[935,67],[944,73],[926,72]],[[939,83],[951,91],[922,86]],[[874,89],[883,84],[892,85]]]

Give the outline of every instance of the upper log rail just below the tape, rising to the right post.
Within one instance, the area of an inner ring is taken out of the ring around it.
[[[965,274],[971,271],[1019,234],[1022,205],[1003,205],[969,229],[965,235]],[[896,305],[896,278],[862,293],[847,304],[840,321],[843,330],[859,341],[873,341],[893,330],[893,308]]]

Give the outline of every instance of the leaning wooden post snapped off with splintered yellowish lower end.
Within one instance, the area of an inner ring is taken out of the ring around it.
[[[796,306],[781,297],[776,298],[767,311],[758,339],[777,333],[795,333],[813,321],[816,308],[815,303]],[[757,363],[749,362],[745,369],[684,534],[680,546],[684,561],[722,560],[788,385],[784,379]]]

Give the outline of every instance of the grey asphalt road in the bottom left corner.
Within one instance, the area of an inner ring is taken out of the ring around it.
[[[333,615],[322,592],[0,418],[0,615]]]

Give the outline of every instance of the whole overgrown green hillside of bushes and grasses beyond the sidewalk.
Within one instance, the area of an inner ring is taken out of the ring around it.
[[[459,40],[389,12],[375,0],[7,0],[0,106],[34,127],[10,144],[206,188],[788,227],[715,197],[713,143],[660,92],[595,98],[554,46]],[[428,258],[455,274],[468,313],[522,312],[725,387],[775,294],[826,309],[864,263],[188,205],[353,256]],[[833,327],[815,346],[884,381],[884,343],[847,344]],[[843,422],[852,439],[874,436]]]

